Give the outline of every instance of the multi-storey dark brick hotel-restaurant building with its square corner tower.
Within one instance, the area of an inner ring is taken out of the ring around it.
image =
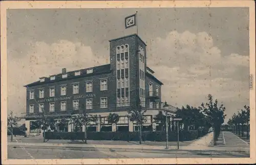
[[[110,64],[85,68],[50,77],[25,85],[27,88],[26,127],[41,113],[52,117],[67,116],[86,110],[101,116],[101,123],[91,126],[93,131],[115,131],[106,117],[117,113],[118,130],[133,131],[136,124],[127,119],[127,110],[140,102],[146,108],[146,130],[156,130],[153,117],[163,110],[163,83],[146,65],[146,44],[137,34],[110,40]],[[176,110],[169,106],[170,110]],[[66,131],[73,131],[72,124]],[[104,129],[103,129],[104,128]],[[84,130],[84,128],[83,128]]]

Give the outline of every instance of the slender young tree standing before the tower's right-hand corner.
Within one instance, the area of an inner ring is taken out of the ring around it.
[[[128,114],[127,117],[131,122],[136,122],[137,126],[139,125],[139,140],[140,140],[140,145],[142,142],[142,126],[143,124],[146,122],[146,116],[144,115],[144,113],[146,112],[146,109],[141,107],[141,102],[138,101],[138,103],[134,106],[132,105],[131,110],[128,110]]]

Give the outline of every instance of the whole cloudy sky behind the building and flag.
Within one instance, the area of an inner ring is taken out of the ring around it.
[[[108,64],[109,40],[136,33],[124,25],[136,11],[162,101],[198,107],[211,94],[227,119],[249,105],[248,8],[9,9],[8,112],[26,111],[23,86],[39,77]]]

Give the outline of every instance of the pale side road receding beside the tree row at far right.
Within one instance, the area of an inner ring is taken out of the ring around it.
[[[244,140],[233,134],[229,131],[223,131],[225,138],[225,147],[241,147],[241,148],[249,148],[250,145],[246,143]]]

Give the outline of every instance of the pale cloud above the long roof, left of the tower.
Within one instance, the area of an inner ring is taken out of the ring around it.
[[[28,43],[29,51],[15,51],[13,54],[9,51],[8,54],[8,111],[13,110],[19,116],[26,109],[24,85],[38,81],[39,77],[58,74],[64,67],[71,71],[109,63],[109,57],[93,54],[90,46],[80,42],[59,40],[52,44],[42,41]]]

